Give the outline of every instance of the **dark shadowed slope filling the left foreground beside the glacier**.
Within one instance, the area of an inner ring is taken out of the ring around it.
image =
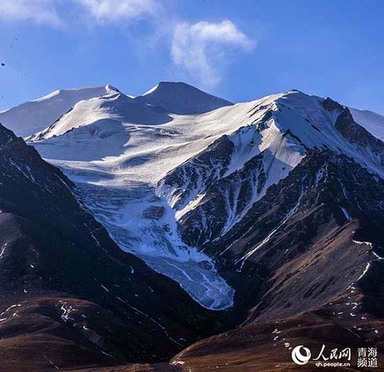
[[[0,354],[18,371],[163,360],[220,325],[121,251],[71,181],[3,126],[0,289]]]

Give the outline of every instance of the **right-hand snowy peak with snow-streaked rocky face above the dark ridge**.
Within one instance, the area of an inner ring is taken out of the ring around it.
[[[201,246],[230,230],[309,149],[330,148],[384,174],[384,146],[330,98],[290,91],[258,103],[246,116],[245,126],[220,137],[158,184],[160,195],[177,211],[188,244]]]

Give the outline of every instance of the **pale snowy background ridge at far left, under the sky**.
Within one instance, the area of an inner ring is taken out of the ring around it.
[[[111,85],[78,89],[59,89],[34,101],[22,103],[0,112],[0,123],[17,136],[27,137],[50,126],[77,102],[115,94],[117,89]]]

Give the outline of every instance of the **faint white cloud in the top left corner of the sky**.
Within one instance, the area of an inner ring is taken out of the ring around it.
[[[2,20],[31,20],[38,24],[57,26],[60,18],[54,0],[0,0]]]

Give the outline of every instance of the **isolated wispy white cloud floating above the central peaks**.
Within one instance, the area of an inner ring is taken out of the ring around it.
[[[256,43],[239,31],[230,20],[195,24],[179,23],[172,38],[172,60],[202,84],[214,86],[221,81],[228,52],[234,48],[252,50]]]

